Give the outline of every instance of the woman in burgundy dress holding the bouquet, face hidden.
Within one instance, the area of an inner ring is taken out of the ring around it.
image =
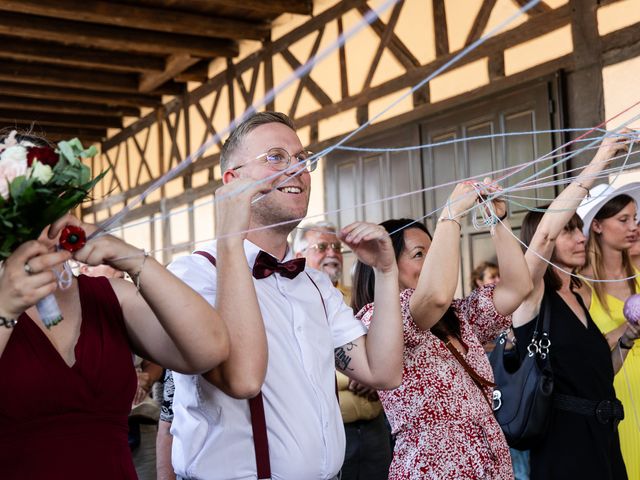
[[[71,254],[52,246],[67,224],[95,230],[65,217],[49,238],[21,245],[0,267],[0,478],[135,479],[127,442],[137,385],[131,351],[201,373],[226,358],[227,331],[195,291],[110,235],[73,256],[128,272],[139,290],[83,275],[58,289],[52,270]],[[47,329],[34,305],[50,293],[64,320]]]

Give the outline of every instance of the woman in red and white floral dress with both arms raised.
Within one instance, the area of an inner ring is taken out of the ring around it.
[[[489,191],[491,187],[485,186]],[[493,240],[501,282],[453,300],[460,272],[460,224],[477,199],[459,184],[438,221],[433,240],[424,225],[389,220],[404,319],[402,384],[379,396],[396,435],[389,478],[513,479],[509,448],[491,408],[493,373],[482,344],[510,325],[507,317],[531,290],[529,273],[506,220]],[[373,275],[357,264],[354,310],[372,318]]]

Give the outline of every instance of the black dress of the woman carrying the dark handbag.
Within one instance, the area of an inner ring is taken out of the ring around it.
[[[606,339],[593,323],[582,299],[578,302],[587,317],[580,321],[557,292],[545,292],[550,302],[550,361],[554,394],[563,393],[589,400],[615,398],[613,364]],[[518,351],[526,354],[536,320],[514,329]],[[553,409],[549,431],[531,450],[531,479],[626,479],[617,430],[587,416]]]

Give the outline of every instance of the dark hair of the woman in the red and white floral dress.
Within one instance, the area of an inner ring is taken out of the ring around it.
[[[400,257],[400,254],[404,250],[404,232],[411,228],[417,228],[426,233],[431,239],[431,233],[424,224],[411,220],[408,218],[399,218],[393,220],[387,220],[380,224],[389,233],[391,237],[391,244],[393,245],[393,251],[396,256],[396,262]],[[369,265],[357,261],[353,272],[353,289],[351,296],[351,308],[354,313],[358,313],[362,307],[373,302],[373,293],[375,291],[376,279],[373,273],[373,268]],[[460,338],[460,320],[456,317],[453,309],[449,307],[449,310],[438,321],[436,325],[431,327],[431,330],[440,331],[445,334],[453,334]]]

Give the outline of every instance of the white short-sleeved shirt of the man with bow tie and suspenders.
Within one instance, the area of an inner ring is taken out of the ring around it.
[[[244,249],[247,265],[238,268],[251,269],[260,249],[248,240]],[[216,257],[215,242],[200,250]],[[290,258],[288,253],[285,260]],[[190,255],[169,268],[215,305],[216,270],[209,260]],[[361,337],[366,328],[317,270],[306,268],[294,279],[274,274],[254,279],[254,285],[269,348],[262,394],[272,478],[334,478],[345,451],[334,349]],[[176,473],[193,480],[257,478],[249,402],[225,395],[199,375],[174,373],[174,378]]]

